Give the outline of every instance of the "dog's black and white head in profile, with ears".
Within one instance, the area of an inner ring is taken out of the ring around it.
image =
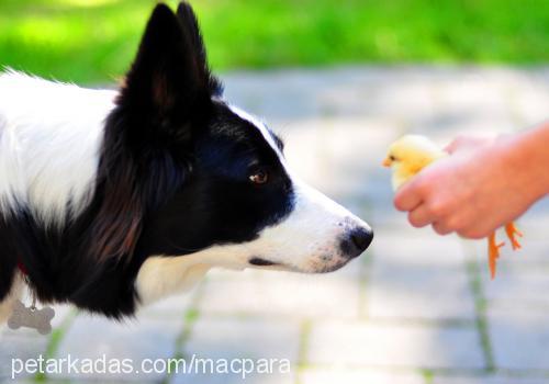
[[[100,259],[327,272],[372,240],[366,223],[299,180],[278,136],[222,99],[186,3],[177,14],[157,5],[148,22],[107,122],[100,180]]]

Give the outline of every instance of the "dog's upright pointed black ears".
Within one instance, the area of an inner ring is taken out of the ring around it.
[[[155,8],[117,100],[139,122],[133,135],[147,143],[190,134],[188,123],[206,113],[220,90],[194,14],[188,4],[180,9],[187,9],[184,23],[166,4]]]

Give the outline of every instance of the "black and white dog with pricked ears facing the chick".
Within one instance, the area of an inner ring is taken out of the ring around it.
[[[212,267],[329,272],[371,240],[222,99],[187,3],[156,7],[117,91],[0,75],[0,319],[24,281],[121,318]]]

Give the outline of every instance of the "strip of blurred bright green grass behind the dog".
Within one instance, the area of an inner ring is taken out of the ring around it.
[[[0,0],[0,65],[104,82],[153,0]],[[169,1],[175,7],[176,1]],[[549,61],[542,0],[194,0],[216,70],[346,63]]]

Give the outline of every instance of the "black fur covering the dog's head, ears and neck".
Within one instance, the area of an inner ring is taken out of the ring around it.
[[[293,192],[277,154],[221,92],[190,5],[157,5],[105,122],[90,205],[60,229],[25,206],[0,223],[0,301],[21,262],[42,301],[120,318],[135,310],[148,257],[251,240],[287,216]],[[249,181],[258,170],[265,185]]]

